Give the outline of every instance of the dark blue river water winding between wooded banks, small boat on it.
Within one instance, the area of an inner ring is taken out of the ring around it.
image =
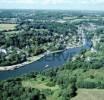
[[[69,61],[74,55],[80,53],[82,49],[88,49],[90,47],[91,47],[91,42],[86,40],[86,43],[83,47],[71,48],[62,51],[60,53],[49,54],[41,58],[40,60],[25,65],[21,68],[0,72],[0,80],[18,77],[33,71],[42,71],[47,68],[53,68],[53,67],[55,68],[58,66],[62,66],[67,61]]]

